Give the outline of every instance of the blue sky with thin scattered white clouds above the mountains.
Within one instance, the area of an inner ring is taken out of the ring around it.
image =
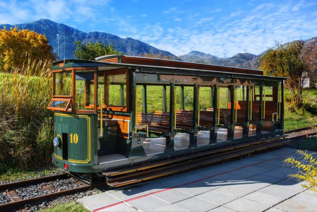
[[[182,55],[260,54],[276,41],[317,36],[314,0],[4,0],[0,24],[47,18],[84,32],[131,37]]]

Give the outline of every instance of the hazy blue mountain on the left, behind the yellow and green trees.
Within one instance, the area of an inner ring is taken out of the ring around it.
[[[53,51],[58,52],[58,36],[59,35],[59,58],[74,58],[73,51],[76,50],[74,41],[80,40],[82,43],[89,43],[90,41],[95,43],[103,42],[104,44],[113,44],[114,49],[124,52],[128,55],[137,56],[142,53],[158,54],[161,52],[163,55],[174,56],[171,52],[159,50],[149,44],[133,38],[120,38],[116,35],[112,35],[106,32],[83,32],[65,24],[59,24],[49,19],[40,19],[38,21],[25,23],[25,24],[0,24],[0,28],[6,27],[18,27],[18,29],[34,30],[37,33],[45,34],[49,40],[49,44],[53,47]],[[65,31],[65,48],[64,48],[64,31]],[[64,54],[65,51],[65,54]]]

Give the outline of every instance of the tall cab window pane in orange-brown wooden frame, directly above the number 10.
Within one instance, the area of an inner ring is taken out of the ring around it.
[[[94,109],[94,70],[76,70],[75,110]]]

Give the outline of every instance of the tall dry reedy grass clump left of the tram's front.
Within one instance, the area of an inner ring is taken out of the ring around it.
[[[48,163],[53,151],[53,113],[48,62],[28,60],[0,73],[0,174]]]

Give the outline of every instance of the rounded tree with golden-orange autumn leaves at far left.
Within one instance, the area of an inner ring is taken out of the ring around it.
[[[45,35],[17,27],[0,29],[0,70],[22,67],[29,60],[51,60],[56,56]]]

